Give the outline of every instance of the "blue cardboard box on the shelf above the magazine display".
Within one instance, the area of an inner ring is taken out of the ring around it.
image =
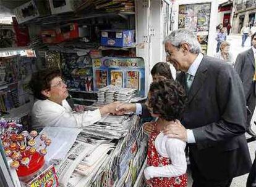
[[[103,30],[101,45],[113,47],[128,47],[134,45],[134,30]]]

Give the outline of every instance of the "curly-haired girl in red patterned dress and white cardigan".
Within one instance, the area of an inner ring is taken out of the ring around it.
[[[168,138],[163,129],[170,121],[181,120],[186,105],[182,86],[173,80],[153,82],[146,102],[151,116],[158,117],[155,131],[148,138],[147,168],[144,170],[150,187],[187,186],[186,143]]]

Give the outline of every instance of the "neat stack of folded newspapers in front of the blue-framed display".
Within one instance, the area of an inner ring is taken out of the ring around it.
[[[109,85],[98,90],[98,102],[113,103],[113,101],[121,101],[126,103],[135,97],[136,91],[136,89]]]

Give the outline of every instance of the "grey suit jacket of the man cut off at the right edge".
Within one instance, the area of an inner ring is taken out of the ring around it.
[[[245,99],[248,100],[250,94],[252,93],[254,98],[256,98],[255,82],[252,81],[255,73],[255,60],[253,50],[245,50],[245,52],[239,54],[236,58],[234,68],[239,74],[244,86]]]

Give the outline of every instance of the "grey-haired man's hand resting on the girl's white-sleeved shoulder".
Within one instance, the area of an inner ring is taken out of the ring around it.
[[[179,120],[171,121],[169,125],[164,127],[164,135],[169,138],[177,138],[187,142],[187,129],[181,124]]]

